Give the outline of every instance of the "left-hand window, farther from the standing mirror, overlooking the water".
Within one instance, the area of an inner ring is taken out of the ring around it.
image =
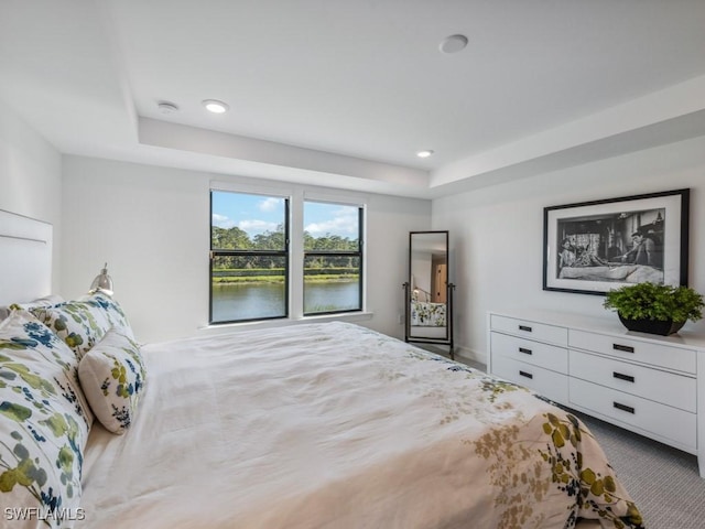
[[[210,323],[289,315],[289,199],[210,192]]]

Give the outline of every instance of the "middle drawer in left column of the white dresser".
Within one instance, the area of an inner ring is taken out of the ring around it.
[[[492,359],[498,355],[554,371],[568,373],[568,349],[519,336],[490,333]]]

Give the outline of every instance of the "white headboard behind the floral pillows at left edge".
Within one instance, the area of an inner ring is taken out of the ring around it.
[[[0,209],[0,305],[52,293],[53,226]]]

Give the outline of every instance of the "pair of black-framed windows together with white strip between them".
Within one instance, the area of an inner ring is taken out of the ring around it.
[[[362,311],[364,199],[314,193],[215,184],[209,323]]]

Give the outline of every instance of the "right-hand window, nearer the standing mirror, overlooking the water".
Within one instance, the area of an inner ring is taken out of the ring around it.
[[[362,208],[304,202],[304,315],[362,310]]]

